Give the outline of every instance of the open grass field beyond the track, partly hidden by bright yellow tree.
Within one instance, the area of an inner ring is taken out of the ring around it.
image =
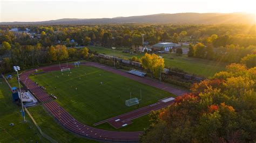
[[[129,54],[122,53],[120,50],[113,51],[110,48],[89,46],[92,51],[97,51],[98,53],[104,53],[107,55],[114,55],[117,57],[130,59],[132,56],[142,57],[144,54]],[[215,73],[224,70],[227,63],[211,61],[205,59],[191,58],[187,55],[177,56],[175,54],[161,54],[165,59],[166,67],[173,67],[183,69],[189,74],[196,74],[205,77],[213,76]]]

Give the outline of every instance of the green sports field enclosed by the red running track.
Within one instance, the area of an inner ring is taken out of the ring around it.
[[[49,93],[55,94],[58,97],[56,101],[73,117],[91,126],[98,121],[137,109],[137,106],[125,105],[125,100],[130,98],[130,92],[132,98],[140,98],[142,89],[140,108],[156,103],[161,98],[173,96],[169,92],[95,67],[80,66],[71,71],[71,74],[66,71],[64,75],[60,71],[53,71],[31,75],[30,78],[45,86]],[[126,130],[138,130],[136,122],[134,125]],[[141,126],[140,130],[144,127]]]

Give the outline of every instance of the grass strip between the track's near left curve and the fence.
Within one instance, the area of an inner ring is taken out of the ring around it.
[[[43,109],[42,105],[34,106],[28,109],[37,124],[44,133],[47,133],[57,142],[97,142],[83,137],[79,137],[61,127],[56,121]]]

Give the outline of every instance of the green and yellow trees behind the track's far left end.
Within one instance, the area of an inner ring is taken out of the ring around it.
[[[9,73],[12,66],[18,65],[21,69],[42,66],[65,60],[79,60],[87,58],[89,49],[69,48],[64,45],[44,47],[41,44],[35,46],[22,46],[16,43],[14,46],[4,42],[9,58],[3,58],[0,62],[0,73]]]

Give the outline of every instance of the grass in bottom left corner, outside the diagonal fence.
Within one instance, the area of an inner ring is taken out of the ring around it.
[[[11,91],[3,78],[0,82],[0,142],[48,142],[28,116],[23,123],[21,106],[12,103]]]

